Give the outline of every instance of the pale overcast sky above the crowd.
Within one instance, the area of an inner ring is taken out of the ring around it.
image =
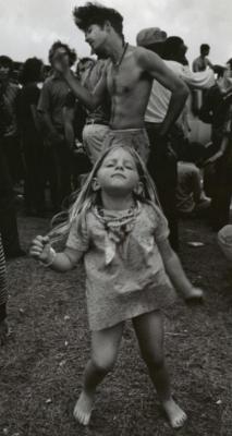
[[[190,62],[202,43],[210,45],[212,63],[232,58],[231,0],[102,0],[124,17],[125,39],[135,45],[145,27],[161,27],[168,36],[181,36]],[[89,56],[84,34],[74,25],[72,10],[78,0],[0,0],[0,55],[24,62],[36,56],[48,63],[48,50],[57,39],[75,48],[80,58]]]

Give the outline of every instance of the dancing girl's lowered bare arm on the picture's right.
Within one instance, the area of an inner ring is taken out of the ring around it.
[[[202,299],[203,290],[195,288],[191,283],[183,270],[178,255],[171,249],[168,239],[162,239],[158,241],[157,244],[162,257],[166,271],[176,291],[179,291],[185,300]]]

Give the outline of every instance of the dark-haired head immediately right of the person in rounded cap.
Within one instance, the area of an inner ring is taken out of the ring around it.
[[[187,47],[179,36],[170,36],[163,44],[163,59],[186,64]]]

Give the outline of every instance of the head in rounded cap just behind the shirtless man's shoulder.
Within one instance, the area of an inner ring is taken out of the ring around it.
[[[137,46],[145,47],[162,57],[167,33],[159,27],[143,28],[136,36]]]

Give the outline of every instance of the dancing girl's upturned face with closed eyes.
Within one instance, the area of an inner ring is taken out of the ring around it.
[[[124,148],[110,152],[97,172],[96,187],[115,194],[130,194],[137,187],[139,177],[133,156]]]

